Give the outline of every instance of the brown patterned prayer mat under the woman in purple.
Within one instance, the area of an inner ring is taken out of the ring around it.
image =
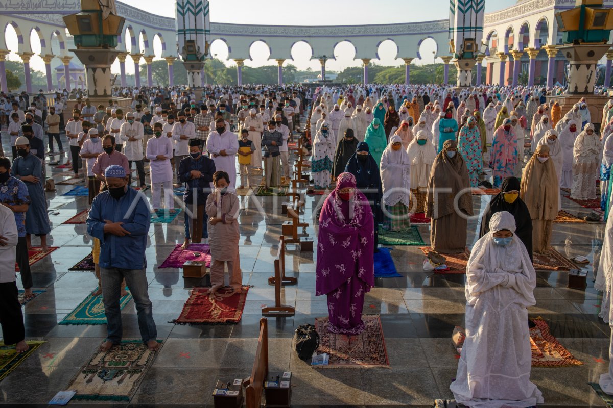
[[[327,353],[330,360],[327,366],[318,368],[368,368],[387,367],[389,358],[383,338],[379,315],[362,315],[364,332],[356,336],[330,333],[329,317],[315,319],[315,330],[319,333],[319,354]]]

